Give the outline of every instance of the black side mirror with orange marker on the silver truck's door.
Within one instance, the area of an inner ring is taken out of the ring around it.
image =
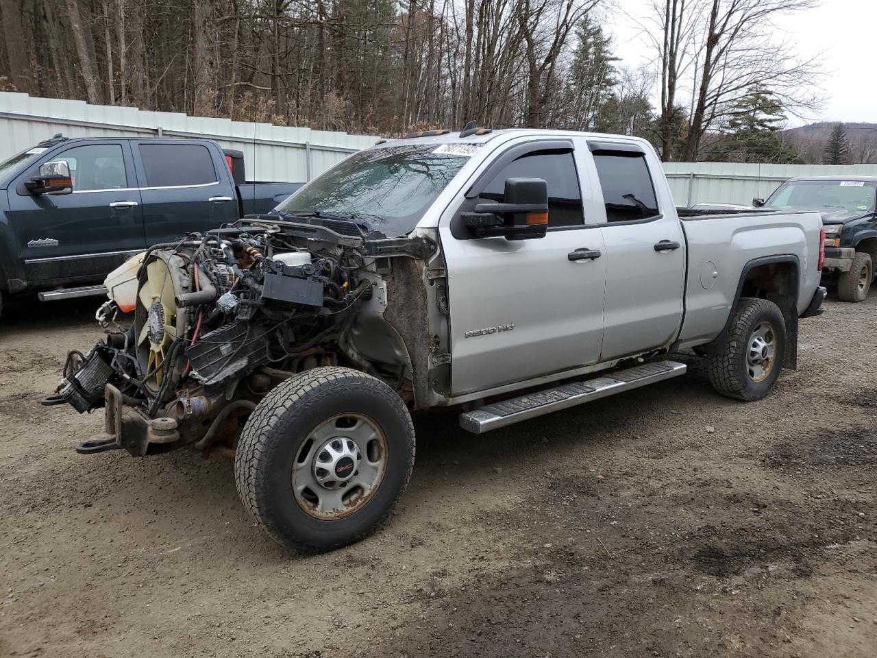
[[[541,178],[509,178],[502,204],[478,204],[462,219],[476,238],[544,238],[548,231],[548,183]]]

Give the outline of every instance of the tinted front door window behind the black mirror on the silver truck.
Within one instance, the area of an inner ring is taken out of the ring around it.
[[[576,226],[585,223],[581,208],[579,175],[573,154],[537,153],[524,155],[503,168],[481,192],[481,199],[503,203],[507,178],[542,178],[548,183],[548,226]]]

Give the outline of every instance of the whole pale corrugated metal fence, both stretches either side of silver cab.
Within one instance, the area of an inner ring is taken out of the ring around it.
[[[67,137],[206,137],[244,152],[247,178],[254,181],[309,181],[377,139],[310,128],[189,117],[177,112],[89,105],[83,101],[32,98],[0,92],[0,161],[63,132]],[[750,204],[770,195],[781,182],[803,175],[877,175],[877,165],[742,164],[667,162],[664,165],[677,205]]]

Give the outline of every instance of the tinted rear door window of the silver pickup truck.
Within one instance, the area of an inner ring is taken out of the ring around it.
[[[652,176],[643,155],[595,153],[594,161],[606,204],[607,221],[629,222],[660,214]]]

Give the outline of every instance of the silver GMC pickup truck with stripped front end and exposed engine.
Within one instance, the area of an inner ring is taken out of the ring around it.
[[[231,457],[272,537],[340,547],[402,495],[416,411],[484,433],[682,375],[685,349],[722,395],[765,396],[821,312],[821,229],[680,218],[642,139],[381,139],[270,214],[139,256],[130,325],[105,304],[44,403],[104,407],[81,453]]]

